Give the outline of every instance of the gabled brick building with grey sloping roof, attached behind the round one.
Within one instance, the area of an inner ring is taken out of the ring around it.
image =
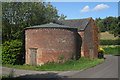
[[[92,18],[56,21],[55,23],[76,27],[82,37],[81,56],[97,58],[99,28]]]

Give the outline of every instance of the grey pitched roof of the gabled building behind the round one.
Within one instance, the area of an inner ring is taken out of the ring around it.
[[[87,24],[90,22],[91,18],[87,19],[72,19],[72,20],[61,20],[57,21],[57,24],[66,25],[70,27],[75,27],[78,31],[85,30]]]

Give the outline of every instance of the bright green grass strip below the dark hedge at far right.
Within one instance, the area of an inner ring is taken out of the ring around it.
[[[120,54],[119,50],[120,50],[120,46],[102,46],[102,48],[104,49],[104,54]]]

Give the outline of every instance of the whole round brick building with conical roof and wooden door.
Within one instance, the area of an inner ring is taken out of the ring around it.
[[[77,28],[69,26],[50,23],[27,27],[25,29],[26,64],[41,65],[46,62],[76,58],[77,53],[80,52],[77,37]]]

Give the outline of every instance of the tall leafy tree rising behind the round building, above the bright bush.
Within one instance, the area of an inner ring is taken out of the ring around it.
[[[21,38],[25,27],[53,22],[60,18],[57,9],[50,3],[10,2],[3,3],[2,6],[3,42]]]

